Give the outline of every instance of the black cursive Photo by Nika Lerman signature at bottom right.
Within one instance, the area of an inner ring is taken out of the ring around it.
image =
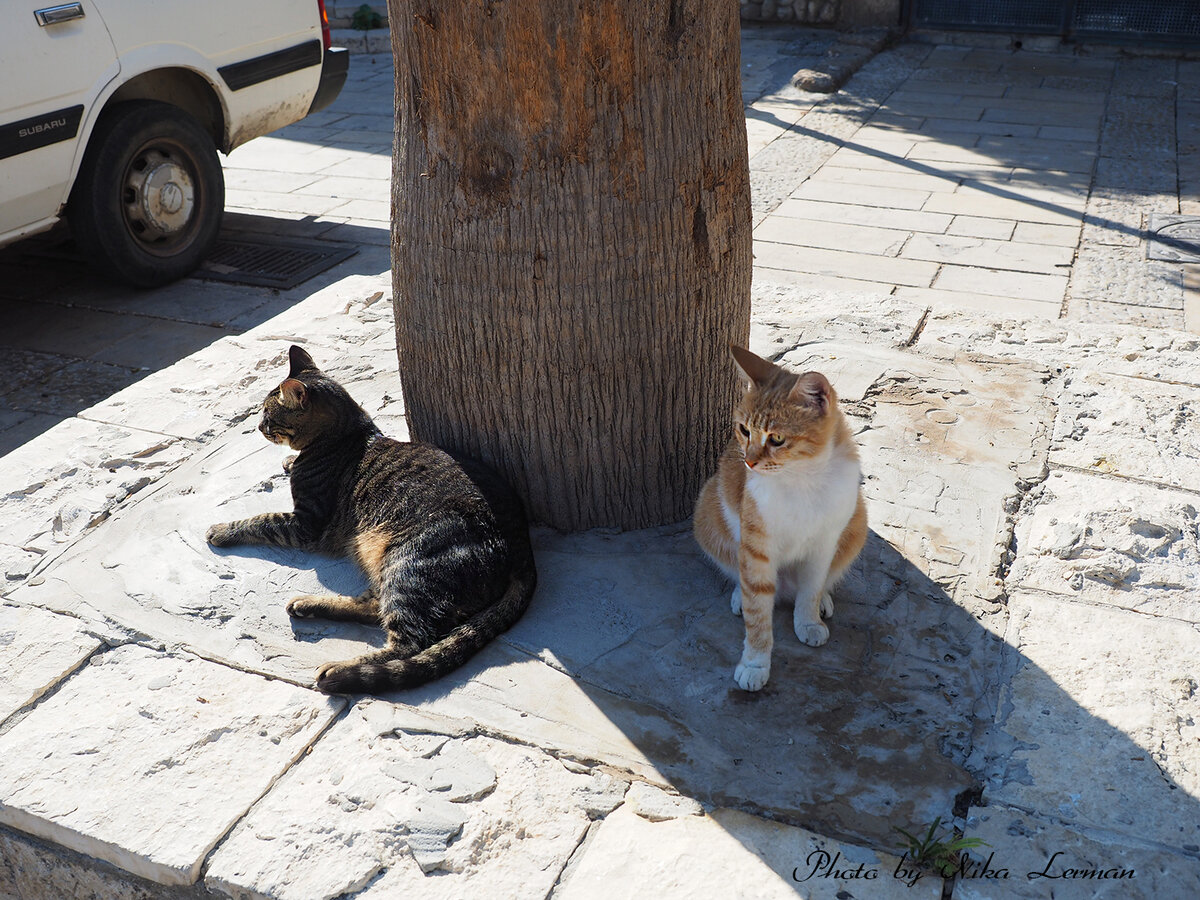
[[[1134,869],[1123,866],[1104,868],[1090,863],[1080,863],[1066,858],[1062,851],[1052,853],[1045,865],[1039,870],[1013,872],[996,860],[996,854],[991,853],[986,860],[978,860],[966,853],[961,853],[956,859],[958,871],[953,877],[964,881],[986,880],[1008,881],[1009,878],[1024,878],[1027,881],[1130,881],[1136,876]],[[815,850],[809,853],[804,865],[792,870],[792,881],[803,884],[812,880],[833,881],[878,881],[881,878],[893,878],[904,882],[908,887],[914,887],[926,875],[928,870],[913,863],[908,854],[900,857],[895,868],[890,871],[877,865],[866,863],[852,863],[841,858],[840,852],[829,853],[826,850]],[[936,876],[935,876],[936,877]]]

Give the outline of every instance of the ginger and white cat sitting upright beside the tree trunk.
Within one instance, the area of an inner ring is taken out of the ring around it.
[[[700,546],[737,587],[745,619],[733,679],[756,691],[770,676],[775,596],[794,596],[796,636],[829,640],[829,589],[866,542],[858,449],[838,396],[820,372],[797,374],[742,347],[749,379],[733,410],[733,440],[696,500]]]

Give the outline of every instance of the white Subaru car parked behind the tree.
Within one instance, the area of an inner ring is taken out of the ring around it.
[[[328,106],[348,55],[324,0],[5,0],[0,246],[61,217],[98,268],[143,287],[217,235],[217,151]]]

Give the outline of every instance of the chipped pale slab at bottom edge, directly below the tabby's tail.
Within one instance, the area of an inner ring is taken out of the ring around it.
[[[390,704],[356,704],[238,824],[208,884],[275,900],[545,896],[628,787],[536,749],[395,726]]]

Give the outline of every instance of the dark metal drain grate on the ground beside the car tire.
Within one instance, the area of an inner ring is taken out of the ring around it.
[[[226,232],[192,277],[287,290],[358,252],[346,244]]]

